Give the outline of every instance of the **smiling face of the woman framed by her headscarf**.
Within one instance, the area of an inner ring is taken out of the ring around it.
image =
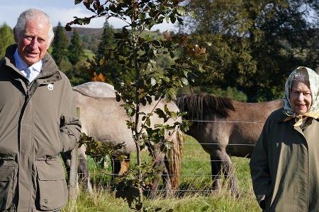
[[[296,114],[306,113],[311,106],[311,91],[305,83],[293,83],[290,95],[290,104],[293,112]]]

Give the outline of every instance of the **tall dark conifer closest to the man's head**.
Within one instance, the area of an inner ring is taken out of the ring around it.
[[[65,29],[62,27],[61,23],[57,24],[55,28],[55,37],[52,42],[52,57],[55,59],[55,63],[60,67],[62,60],[68,62],[67,59],[67,47],[69,46],[69,40],[67,35],[65,35]]]

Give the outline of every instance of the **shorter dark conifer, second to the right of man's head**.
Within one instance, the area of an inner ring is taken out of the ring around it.
[[[84,56],[84,49],[82,46],[81,37],[79,36],[79,33],[77,33],[77,30],[73,30],[73,34],[71,37],[71,43],[68,47],[68,58],[72,65],[77,64],[77,62],[80,61],[81,57]]]

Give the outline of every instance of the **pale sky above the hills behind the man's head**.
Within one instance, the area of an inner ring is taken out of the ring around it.
[[[91,16],[92,13],[88,11],[83,4],[74,5],[74,0],[9,0],[1,2],[0,6],[0,25],[7,23],[11,28],[16,25],[16,20],[22,11],[26,11],[28,8],[38,8],[41,11],[47,13],[51,20],[52,25],[56,26],[60,21],[62,25],[65,25],[69,21],[73,20],[74,16],[84,17]],[[96,18],[91,20],[89,25],[84,27],[89,28],[102,28],[105,18]],[[124,23],[118,19],[109,19],[113,28],[121,28]],[[79,25],[74,25],[79,26]],[[152,30],[159,29],[160,31],[172,30],[174,26],[172,23],[166,23],[152,28]]]

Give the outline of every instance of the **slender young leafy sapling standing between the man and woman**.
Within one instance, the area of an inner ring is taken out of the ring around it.
[[[75,1],[76,4],[82,0]],[[130,179],[121,178],[129,187],[138,189],[138,196],[130,196],[130,199],[137,197],[138,203],[135,209],[142,211],[143,191],[148,189],[149,184],[143,177],[147,175],[150,168],[142,163],[141,150],[145,146],[154,148],[154,145],[162,143],[163,151],[169,146],[164,139],[165,132],[176,127],[186,129],[186,122],[174,122],[173,126],[165,124],[167,119],[177,120],[182,114],[164,110],[152,110],[150,113],[140,112],[140,105],[150,104],[152,101],[159,101],[163,98],[174,99],[175,88],[184,86],[189,80],[194,80],[195,73],[201,70],[200,64],[195,60],[204,54],[205,49],[198,45],[189,43],[188,37],[184,35],[172,35],[166,31],[162,37],[152,37],[144,35],[146,30],[152,26],[170,20],[175,23],[177,20],[182,23],[181,15],[185,13],[180,0],[106,0],[101,3],[99,0],[83,1],[84,6],[94,14],[87,18],[75,18],[67,23],[66,28],[70,29],[72,24],[87,24],[92,18],[106,16],[115,17],[125,21],[127,25],[120,33],[115,33],[116,48],[113,49],[113,57],[101,59],[100,61],[89,61],[89,69],[96,70],[96,67],[108,63],[108,60],[121,65],[121,71],[131,73],[133,80],[125,78],[113,78],[116,89],[116,99],[123,100],[123,107],[128,114],[127,125],[132,130],[133,139],[137,149],[137,166],[129,172],[135,173],[135,177]],[[177,51],[186,52],[177,57]],[[168,54],[174,59],[172,66],[165,67],[162,71],[157,71],[156,58],[163,54]],[[107,107],[107,105],[106,105]],[[164,124],[151,127],[150,117],[157,114],[164,119]],[[142,121],[140,121],[142,120]],[[140,124],[142,122],[142,124]],[[147,167],[147,168],[145,168]],[[151,176],[150,176],[151,177]],[[132,193],[128,195],[134,195]]]

